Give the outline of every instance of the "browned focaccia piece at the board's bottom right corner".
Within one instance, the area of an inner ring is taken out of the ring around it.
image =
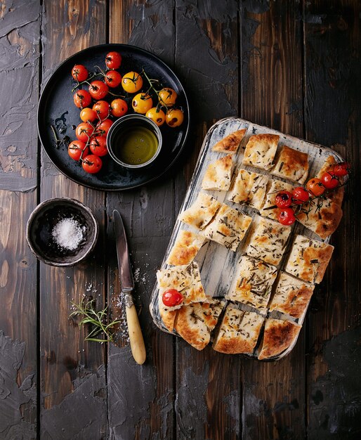
[[[265,321],[265,332],[263,334],[263,343],[258,359],[269,359],[279,356],[286,349],[289,349],[296,343],[301,325],[291,321],[282,321],[280,319],[268,319]]]

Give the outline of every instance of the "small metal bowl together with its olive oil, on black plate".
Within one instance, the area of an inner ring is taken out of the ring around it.
[[[107,134],[110,156],[128,168],[145,167],[159,154],[162,134],[151,119],[126,115],[114,122]]]

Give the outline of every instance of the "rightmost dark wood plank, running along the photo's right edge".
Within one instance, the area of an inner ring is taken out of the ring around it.
[[[360,2],[305,6],[306,133],[353,165],[334,255],[311,303],[308,436],[360,436]],[[335,145],[338,144],[338,145]],[[341,145],[340,145],[341,144]],[[356,221],[355,221],[356,219]]]

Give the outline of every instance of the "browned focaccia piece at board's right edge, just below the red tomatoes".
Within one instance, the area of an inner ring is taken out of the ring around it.
[[[306,212],[305,212],[306,211]],[[296,215],[296,219],[316,233],[320,238],[327,238],[336,231],[342,218],[340,205],[328,198],[312,200]]]

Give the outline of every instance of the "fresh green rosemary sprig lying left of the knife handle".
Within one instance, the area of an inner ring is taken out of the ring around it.
[[[114,321],[107,323],[107,306],[103,310],[96,311],[95,303],[96,300],[93,298],[88,299],[88,301],[84,299],[80,304],[72,302],[76,310],[70,313],[70,317],[83,316],[79,322],[79,327],[85,324],[93,326],[93,329],[84,341],[114,343],[114,327],[121,321],[115,319]],[[104,335],[106,339],[101,339],[100,335]]]

